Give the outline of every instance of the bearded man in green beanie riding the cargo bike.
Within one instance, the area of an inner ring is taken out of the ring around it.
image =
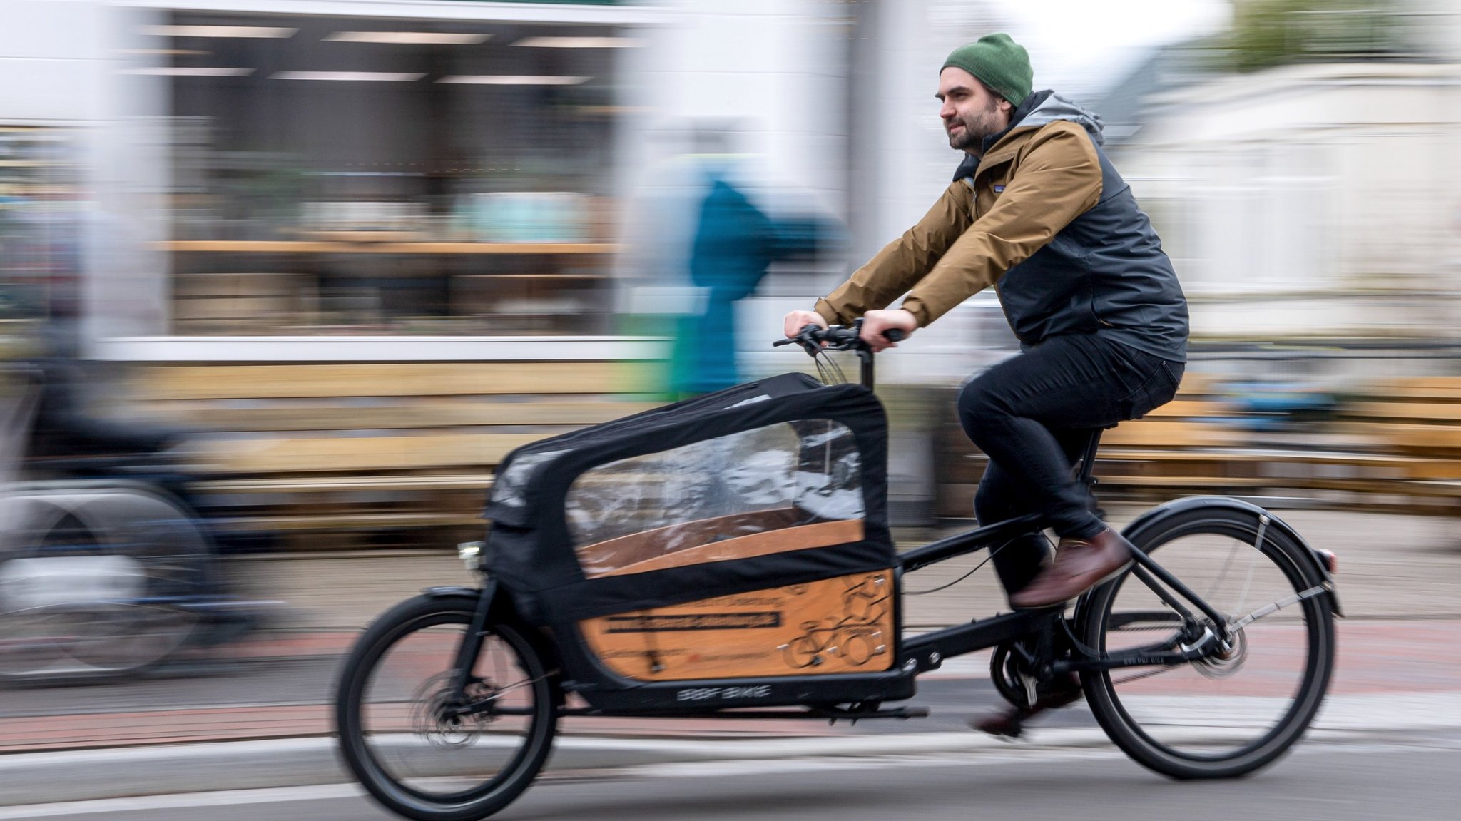
[[[944,61],[937,98],[950,148],[967,156],[926,215],[785,333],[863,317],[862,339],[928,326],[993,286],[1021,354],[958,397],[969,438],[989,456],[974,495],[980,524],[1043,513],[1061,538],[1029,535],[993,555],[1015,608],[1059,605],[1131,561],[1071,466],[1091,428],[1172,400],[1186,362],[1188,311],[1172,263],[1102,150],[1100,118],[1031,92],[1026,50],[992,34]],[[900,294],[900,308],[887,305]],[[1055,694],[1033,706],[1068,703]],[[1023,717],[1023,716],[1021,716]],[[1011,720],[1018,720],[1012,717]],[[985,728],[991,729],[991,728]]]

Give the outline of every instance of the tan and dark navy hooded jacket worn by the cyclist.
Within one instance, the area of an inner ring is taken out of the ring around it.
[[[1102,333],[1186,361],[1188,311],[1172,261],[1102,150],[1100,118],[1049,91],[985,140],[934,207],[817,301],[849,323],[907,294],[928,326],[995,286],[1021,346]]]

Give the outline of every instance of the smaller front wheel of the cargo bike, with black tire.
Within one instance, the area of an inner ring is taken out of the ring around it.
[[[335,704],[340,751],[361,784],[408,818],[487,818],[527,789],[552,749],[558,673],[516,619],[488,621],[472,671],[476,692],[500,692],[510,713],[453,720],[438,711],[476,602],[466,595],[402,602],[345,660]]]

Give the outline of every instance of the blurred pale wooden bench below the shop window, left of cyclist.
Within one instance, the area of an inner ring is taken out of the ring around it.
[[[196,431],[226,526],[285,545],[451,545],[481,533],[513,448],[657,405],[634,362],[148,365],[130,412]]]

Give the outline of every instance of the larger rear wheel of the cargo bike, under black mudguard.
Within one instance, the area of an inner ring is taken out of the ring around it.
[[[1321,583],[1308,548],[1262,526],[1258,511],[1176,511],[1132,542],[1229,622]],[[1180,624],[1131,571],[1093,590],[1083,614],[1083,641],[1102,653],[1160,644]],[[1303,735],[1328,690],[1334,652],[1334,612],[1321,593],[1248,624],[1227,659],[1087,672],[1081,681],[1096,720],[1135,761],[1173,779],[1227,779],[1271,764]]]

